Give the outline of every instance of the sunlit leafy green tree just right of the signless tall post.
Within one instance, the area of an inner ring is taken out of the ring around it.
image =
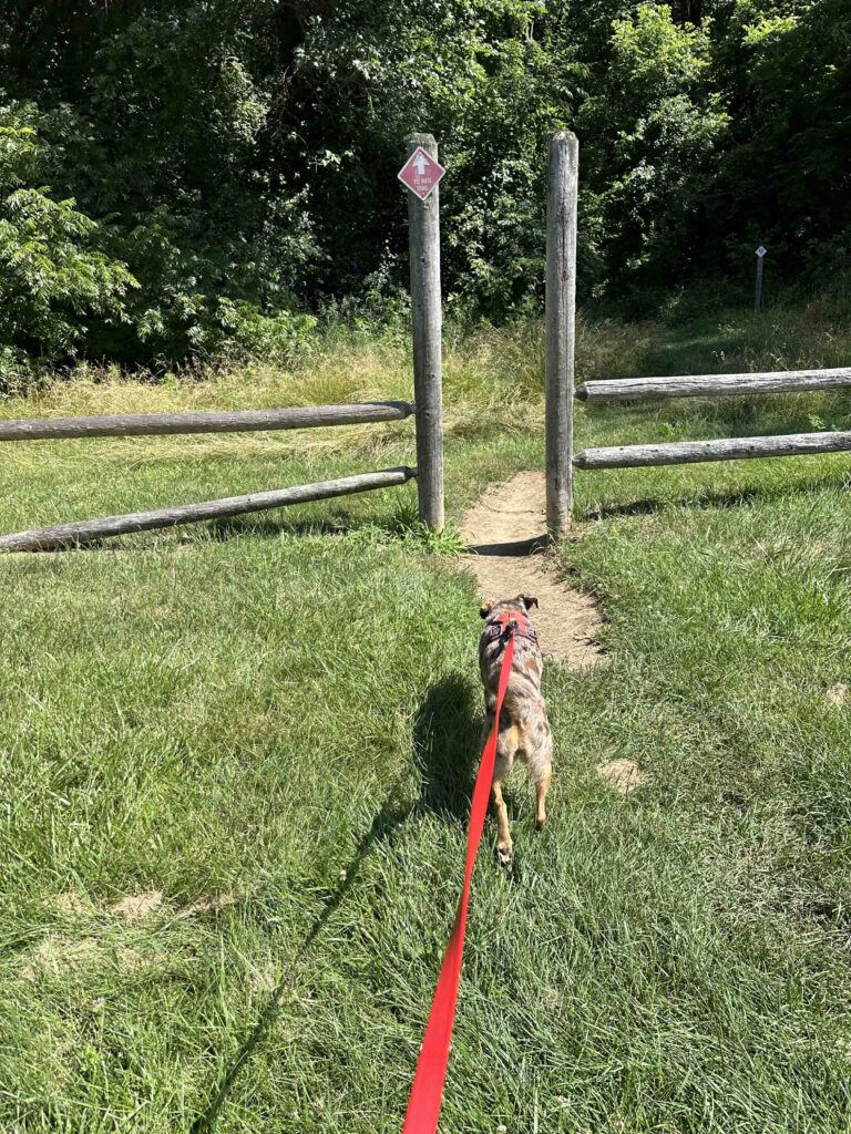
[[[613,23],[610,50],[601,88],[580,111],[598,271],[622,288],[669,286],[728,124],[710,84],[709,26],[679,26],[666,5],[642,3]]]

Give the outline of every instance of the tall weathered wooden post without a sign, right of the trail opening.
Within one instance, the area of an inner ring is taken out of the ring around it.
[[[576,330],[579,142],[549,143],[547,176],[547,527],[563,539],[573,513],[573,348]]]

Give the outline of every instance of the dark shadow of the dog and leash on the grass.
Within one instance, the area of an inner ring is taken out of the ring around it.
[[[478,716],[472,683],[458,675],[443,678],[426,692],[416,709],[413,726],[413,759],[422,777],[420,796],[414,801],[404,798],[407,773],[403,772],[373,815],[369,829],[361,836],[348,865],[340,871],[340,883],[327,892],[322,908],[300,945],[289,971],[270,995],[258,1021],[246,1032],[207,1108],[192,1124],[192,1134],[211,1134],[216,1128],[221,1108],[239,1072],[275,1023],[285,992],[295,983],[310,950],[345,902],[372,848],[390,838],[408,818],[418,814],[430,813],[452,822],[466,823],[478,765]]]

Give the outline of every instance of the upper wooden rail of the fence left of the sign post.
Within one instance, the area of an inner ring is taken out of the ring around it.
[[[165,437],[179,433],[251,433],[397,422],[414,413],[412,401],[366,401],[293,409],[234,409],[196,414],[129,414],[103,417],[35,417],[0,422],[0,441],[58,441],[87,437]]]

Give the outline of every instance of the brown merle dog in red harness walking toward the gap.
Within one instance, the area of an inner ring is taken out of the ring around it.
[[[508,812],[503,798],[503,780],[522,760],[536,788],[536,826],[540,830],[547,822],[546,799],[553,778],[553,734],[547,719],[547,706],[541,696],[544,655],[538,635],[529,620],[529,610],[538,606],[531,595],[486,602],[479,613],[485,629],[479,640],[479,671],[485,686],[487,712],[482,733],[482,747],[494,727],[497,688],[503,654],[507,644],[507,626],[514,621],[514,658],[508,686],[499,714],[496,765],[490,793],[497,821],[497,856],[504,865],[514,857],[514,844],[508,828]]]

